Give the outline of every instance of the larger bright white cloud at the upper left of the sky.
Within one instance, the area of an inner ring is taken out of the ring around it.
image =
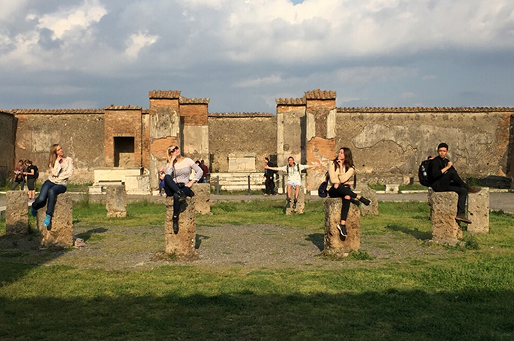
[[[41,16],[38,27],[52,30],[55,38],[62,38],[66,31],[86,30],[106,14],[106,8],[98,0],[85,0],[78,8],[67,8]]]

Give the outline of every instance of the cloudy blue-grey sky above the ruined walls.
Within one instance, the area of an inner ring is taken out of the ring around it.
[[[514,106],[513,0],[0,0],[0,109]]]

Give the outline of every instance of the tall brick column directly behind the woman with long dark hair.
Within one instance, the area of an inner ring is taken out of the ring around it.
[[[306,163],[321,162],[320,169],[308,169],[307,190],[316,191],[324,180],[328,161],[335,157],[336,92],[307,91],[306,98]]]

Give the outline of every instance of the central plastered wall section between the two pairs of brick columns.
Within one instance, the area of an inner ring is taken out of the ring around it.
[[[264,173],[265,156],[277,152],[277,119],[269,113],[210,114],[209,152],[212,172],[228,172],[229,155],[255,155]]]

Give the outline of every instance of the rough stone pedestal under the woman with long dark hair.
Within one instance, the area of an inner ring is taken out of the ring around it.
[[[360,248],[360,210],[356,204],[350,204],[350,211],[346,219],[345,240],[339,237],[337,224],[341,222],[341,198],[327,198],[325,200],[325,239],[323,241],[323,255],[345,257],[350,251]]]

